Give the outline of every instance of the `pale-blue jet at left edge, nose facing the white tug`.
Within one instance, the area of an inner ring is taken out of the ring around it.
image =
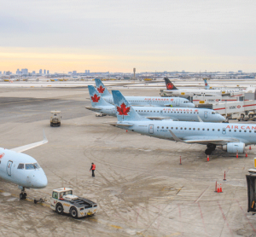
[[[19,185],[21,189],[20,199],[26,199],[25,188],[45,188],[47,186],[47,177],[37,160],[23,153],[47,142],[48,140],[44,135],[44,140],[41,142],[10,150],[0,147],[0,177]]]

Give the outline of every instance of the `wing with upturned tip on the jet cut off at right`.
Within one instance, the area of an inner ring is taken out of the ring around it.
[[[237,139],[187,139],[187,140],[181,140],[180,138],[178,138],[173,132],[172,130],[169,130],[170,133],[172,134],[173,139],[176,142],[184,142],[184,143],[189,143],[189,144],[193,144],[193,143],[198,143],[198,144],[202,144],[202,145],[207,145],[209,143],[215,144],[215,145],[225,145],[229,142],[240,142]]]

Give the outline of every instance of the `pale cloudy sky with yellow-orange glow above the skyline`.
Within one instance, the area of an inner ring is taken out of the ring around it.
[[[254,0],[8,0],[0,71],[256,72]]]

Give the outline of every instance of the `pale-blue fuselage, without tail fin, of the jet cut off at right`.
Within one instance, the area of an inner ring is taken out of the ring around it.
[[[130,124],[130,126],[119,128],[131,130],[147,136],[154,136],[167,140],[175,140],[169,130],[182,140],[207,141],[229,140],[245,143],[245,145],[256,144],[256,124],[212,124],[199,122],[179,122],[168,120],[146,120],[146,121],[125,121],[118,124]],[[201,142],[197,142],[201,143]],[[201,144],[206,144],[202,142]],[[223,142],[220,142],[220,145]]]

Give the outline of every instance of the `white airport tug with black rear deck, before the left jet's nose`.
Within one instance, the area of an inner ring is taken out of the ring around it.
[[[58,214],[67,213],[73,218],[88,217],[96,213],[95,202],[73,195],[72,188],[57,188],[52,192],[50,208]]]

